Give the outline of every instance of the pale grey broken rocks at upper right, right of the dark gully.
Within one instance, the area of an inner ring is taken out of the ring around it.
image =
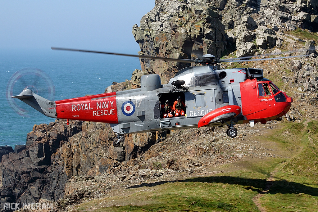
[[[317,3],[311,1],[225,1],[222,24],[235,36],[237,57],[282,46],[277,31],[317,31]],[[231,45],[232,42],[229,44]],[[229,44],[227,48],[230,48]]]

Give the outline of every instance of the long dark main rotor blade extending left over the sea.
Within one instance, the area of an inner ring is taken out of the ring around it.
[[[91,50],[83,50],[83,49],[68,49],[68,48],[59,48],[59,47],[51,47],[51,49],[63,50],[63,51],[89,52],[89,53],[98,53],[98,54],[112,54],[112,55],[128,56],[128,57],[135,57],[135,58],[145,58],[145,59],[151,59],[151,60],[166,60],[166,61],[175,61],[175,62],[182,62],[182,63],[194,63],[194,60],[191,60],[191,59],[161,58],[161,57],[153,57],[153,56],[145,56],[145,55],[122,54],[122,53],[114,53],[114,52],[106,52],[106,51],[91,51]]]

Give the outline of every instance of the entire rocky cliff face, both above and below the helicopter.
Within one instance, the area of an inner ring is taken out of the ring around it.
[[[265,74],[278,75],[285,88],[306,91],[293,91],[298,100],[294,100],[296,106],[288,115],[289,121],[301,121],[300,110],[310,111],[305,114],[308,118],[318,117],[316,111],[304,106],[308,101],[317,104],[313,93],[318,90],[318,59],[314,41],[285,33],[296,28],[318,29],[317,1],[157,0],[140,26],[133,26],[133,34],[141,48],[139,54],[169,58],[194,59],[203,54],[222,57],[229,53],[227,57],[233,57],[235,50],[237,57],[244,57],[272,48],[280,54],[280,48],[303,47],[301,54],[310,54],[309,58],[262,66]],[[112,85],[112,91],[140,86],[143,74],[159,74],[162,83],[167,83],[190,64],[141,59],[141,65],[142,70],[133,73],[132,82]],[[256,132],[245,128],[240,128],[239,139]],[[25,146],[14,151],[0,148],[0,202],[64,198],[69,199],[67,205],[72,204],[72,198],[78,201],[91,194],[66,188],[69,181],[75,182],[82,175],[100,177],[107,183],[137,183],[139,178],[162,176],[162,170],[192,174],[205,165],[239,160],[243,156],[232,155],[231,151],[245,146],[239,141],[225,143],[228,141],[223,131],[218,127],[177,131],[163,135],[164,142],[159,142],[156,133],[131,134],[122,146],[114,148],[116,138],[108,124],[70,121],[66,125],[66,120],[56,120],[35,125]]]

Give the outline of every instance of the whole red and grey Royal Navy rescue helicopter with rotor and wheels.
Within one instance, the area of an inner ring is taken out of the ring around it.
[[[112,92],[109,86],[107,93],[53,101],[25,88],[19,95],[11,96],[48,117],[109,123],[117,135],[114,147],[119,147],[124,135],[129,133],[170,133],[170,130],[208,126],[228,126],[226,133],[234,138],[238,135],[234,128],[236,124],[249,123],[253,127],[255,123],[265,124],[284,116],[293,98],[264,78],[263,69],[218,69],[217,64],[307,56],[246,60],[251,57],[220,59],[205,54],[197,59],[175,59],[57,47],[52,47],[52,50],[201,64],[179,70],[164,85],[158,74],[149,74],[141,77],[140,88],[119,92]],[[168,116],[164,105],[171,108],[178,101],[183,103],[183,113],[177,113],[173,107]]]

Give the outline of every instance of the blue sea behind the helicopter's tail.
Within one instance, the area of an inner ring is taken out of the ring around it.
[[[55,121],[8,96],[19,95],[24,87],[50,100],[100,94],[113,82],[130,80],[135,69],[141,69],[139,59],[125,56],[0,50],[0,146],[25,144],[35,124]]]

